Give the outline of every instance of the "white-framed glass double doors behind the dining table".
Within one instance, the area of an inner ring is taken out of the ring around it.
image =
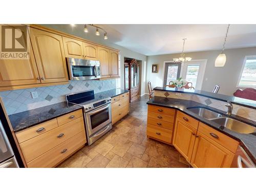
[[[201,90],[206,62],[206,59],[191,60],[183,63],[165,62],[163,87],[168,85],[170,81],[182,77],[191,82],[196,90]]]

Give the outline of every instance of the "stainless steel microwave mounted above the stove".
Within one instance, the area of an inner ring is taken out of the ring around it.
[[[97,60],[67,57],[70,80],[89,80],[100,78],[100,63]]]

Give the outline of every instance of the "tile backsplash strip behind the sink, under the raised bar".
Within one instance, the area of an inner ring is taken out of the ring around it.
[[[224,112],[227,111],[227,107],[225,106],[225,104],[227,104],[227,102],[220,101],[217,99],[211,99],[211,98],[200,96],[200,95],[189,94],[189,93],[181,93],[180,95],[176,95],[175,92],[166,92],[166,91],[157,91],[157,90],[155,90],[154,95],[160,96],[160,97],[193,100],[193,101],[211,106],[212,108],[219,109]],[[233,104],[232,114],[238,115],[238,116],[246,118],[246,119],[256,121],[256,110],[247,108],[246,106]]]

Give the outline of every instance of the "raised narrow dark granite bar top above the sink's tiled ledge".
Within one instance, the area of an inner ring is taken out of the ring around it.
[[[196,94],[196,95],[201,95],[201,96],[212,98],[212,99],[217,99],[220,101],[225,101],[225,102],[231,101],[231,103],[234,103],[234,104],[239,104],[242,106],[246,106],[248,108],[256,109],[256,101],[254,100],[228,96],[228,95],[223,95],[218,93],[212,93],[208,91],[192,90],[192,89],[177,90],[175,88],[169,88],[169,87],[156,87],[154,88],[154,90]]]

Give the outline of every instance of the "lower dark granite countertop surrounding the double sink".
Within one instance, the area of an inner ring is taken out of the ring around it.
[[[174,99],[174,98],[157,97],[157,96],[155,96],[152,99],[150,99],[149,101],[147,101],[147,104],[153,104],[153,105],[158,105],[158,106],[165,106],[167,108],[177,109],[177,110],[182,111],[183,113],[209,125],[210,127],[224,133],[225,135],[228,135],[229,137],[236,139],[237,141],[240,142],[241,146],[244,148],[244,150],[249,155],[251,160],[256,164],[256,136],[255,135],[241,134],[241,133],[233,132],[224,126],[221,126],[215,122],[207,120],[199,115],[196,115],[193,112],[188,111],[187,108],[194,107],[194,106],[202,106],[202,107],[208,108],[212,111],[218,112],[218,113],[222,114],[223,116],[225,116],[225,112],[223,112],[221,110],[217,110],[215,108],[211,108],[207,105],[204,105],[204,104],[201,104],[201,103],[198,103],[195,101],[191,101],[191,100]],[[251,120],[248,120],[248,119],[236,116],[236,115],[232,115],[231,117],[236,118],[239,121],[248,123],[252,126],[256,126],[256,122],[254,122],[254,121],[251,121]]]

